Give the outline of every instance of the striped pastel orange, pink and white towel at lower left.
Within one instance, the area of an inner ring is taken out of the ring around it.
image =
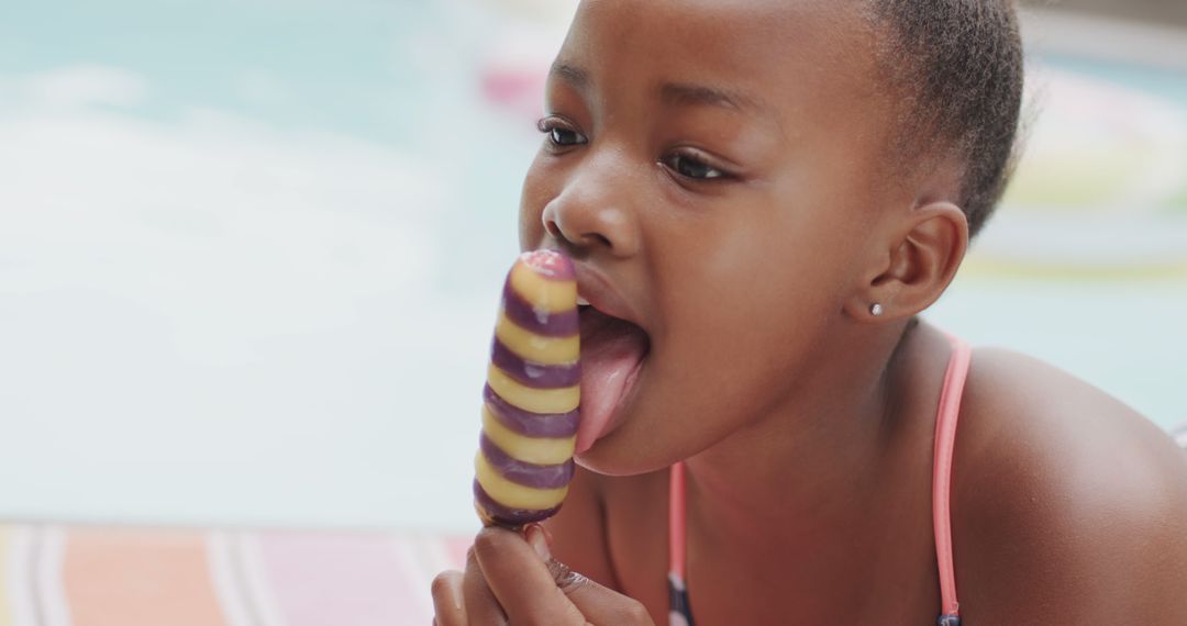
[[[426,626],[470,541],[0,525],[0,626]]]

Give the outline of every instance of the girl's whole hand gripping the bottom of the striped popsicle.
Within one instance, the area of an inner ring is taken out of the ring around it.
[[[539,524],[481,530],[465,573],[444,571],[432,589],[434,626],[654,626],[637,600],[554,561]]]

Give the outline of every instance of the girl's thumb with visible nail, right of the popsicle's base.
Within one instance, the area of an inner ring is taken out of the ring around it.
[[[588,622],[595,626],[654,626],[655,622],[642,602],[598,585],[552,558],[540,526],[529,528],[527,535],[528,543],[548,566],[557,588],[582,612]]]

